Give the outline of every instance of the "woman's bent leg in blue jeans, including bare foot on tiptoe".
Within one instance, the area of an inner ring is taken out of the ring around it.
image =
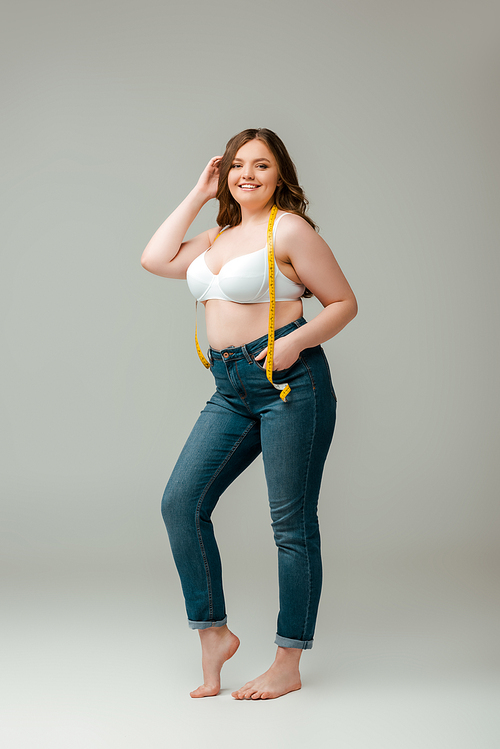
[[[259,423],[222,405],[216,393],[200,414],[162,500],[189,626],[198,629],[205,683],[217,694],[220,669],[239,645],[226,626],[222,568],[211,514],[222,492],[261,451]]]

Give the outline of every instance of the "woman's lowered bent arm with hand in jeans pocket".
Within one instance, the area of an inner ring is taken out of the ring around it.
[[[279,228],[279,259],[292,266],[324,309],[306,325],[276,341],[276,370],[290,367],[303,349],[333,338],[358,311],[356,297],[330,247],[307,221],[289,216]]]

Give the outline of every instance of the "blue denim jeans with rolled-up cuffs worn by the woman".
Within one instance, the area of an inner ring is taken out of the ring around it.
[[[276,331],[276,338],[300,325]],[[305,349],[289,368],[284,403],[255,356],[267,336],[222,351],[209,350],[217,389],[201,412],[162,501],[174,561],[192,629],[227,621],[222,568],[211,514],[227,487],[262,452],[272,528],[278,547],[276,644],[312,647],[322,568],[318,495],[333,437],[336,397],[321,346]]]

